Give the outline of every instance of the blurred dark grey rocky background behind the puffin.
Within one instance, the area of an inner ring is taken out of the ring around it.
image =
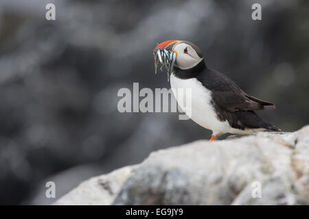
[[[308,12],[292,0],[1,0],[0,204],[49,204],[151,151],[209,138],[176,113],[117,111],[119,88],[170,88],[152,56],[165,40],[194,42],[208,66],[275,103],[258,114],[283,131],[308,124]]]

